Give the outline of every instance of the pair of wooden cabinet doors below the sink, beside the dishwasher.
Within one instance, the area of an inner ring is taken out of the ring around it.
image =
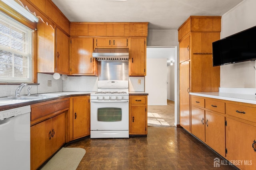
[[[65,112],[30,128],[31,170],[38,168],[65,143]]]

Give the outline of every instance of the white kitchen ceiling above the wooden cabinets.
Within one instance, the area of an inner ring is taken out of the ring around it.
[[[222,16],[243,0],[52,0],[71,22],[149,22],[178,29],[189,16]]]

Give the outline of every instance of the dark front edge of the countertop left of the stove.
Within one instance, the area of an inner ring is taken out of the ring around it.
[[[51,101],[51,100],[75,97],[75,96],[90,96],[90,93],[88,93],[88,94],[67,94],[67,95],[57,96],[57,97],[52,97],[52,98],[42,98],[42,99],[39,99],[39,100],[18,102],[16,104],[6,104],[6,105],[3,105],[3,106],[0,106],[0,111],[7,110],[7,109],[13,109],[13,108],[16,108],[16,107],[28,106],[28,105],[42,103],[42,102],[48,102],[48,101]]]

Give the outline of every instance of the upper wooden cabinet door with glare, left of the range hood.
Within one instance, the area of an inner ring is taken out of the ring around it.
[[[93,38],[71,39],[71,74],[93,74]]]

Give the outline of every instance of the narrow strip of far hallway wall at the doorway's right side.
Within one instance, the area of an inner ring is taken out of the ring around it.
[[[174,101],[174,65],[167,66],[167,99]]]

